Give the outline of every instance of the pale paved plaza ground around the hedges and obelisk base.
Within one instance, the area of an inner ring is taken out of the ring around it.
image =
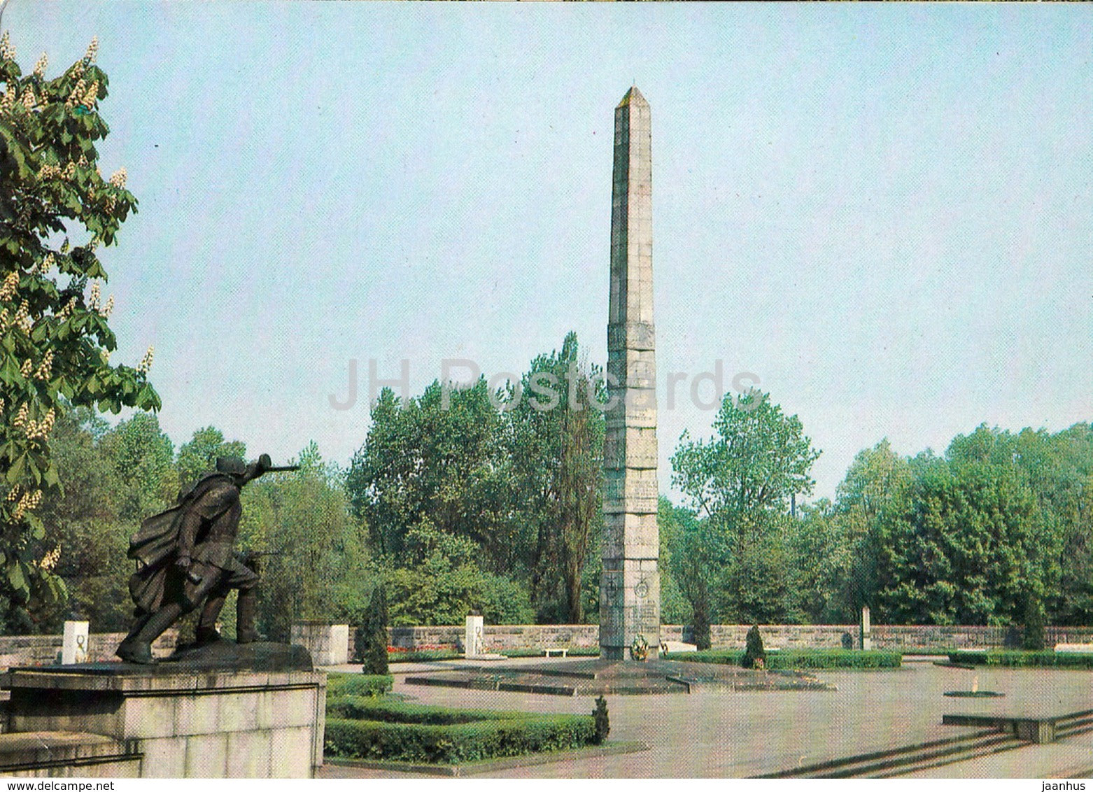
[[[542,662],[537,660],[536,662]],[[557,661],[560,664],[572,661]],[[392,666],[395,691],[423,704],[489,707],[534,712],[591,712],[591,698],[463,690],[406,685],[408,673],[455,663]],[[356,670],[360,666],[344,666]],[[670,778],[749,777],[856,754],[971,734],[943,726],[955,712],[1065,714],[1093,709],[1093,674],[1067,670],[939,667],[905,662],[889,671],[816,672],[834,691],[696,690],[691,695],[608,696],[612,741],[644,741],[634,754],[556,761],[490,772],[494,778]],[[947,690],[980,690],[994,699],[950,698]],[[922,777],[1072,776],[1093,771],[1093,734],[1047,745],[1026,745],[915,773]],[[327,778],[402,777],[379,770],[334,767]]]

